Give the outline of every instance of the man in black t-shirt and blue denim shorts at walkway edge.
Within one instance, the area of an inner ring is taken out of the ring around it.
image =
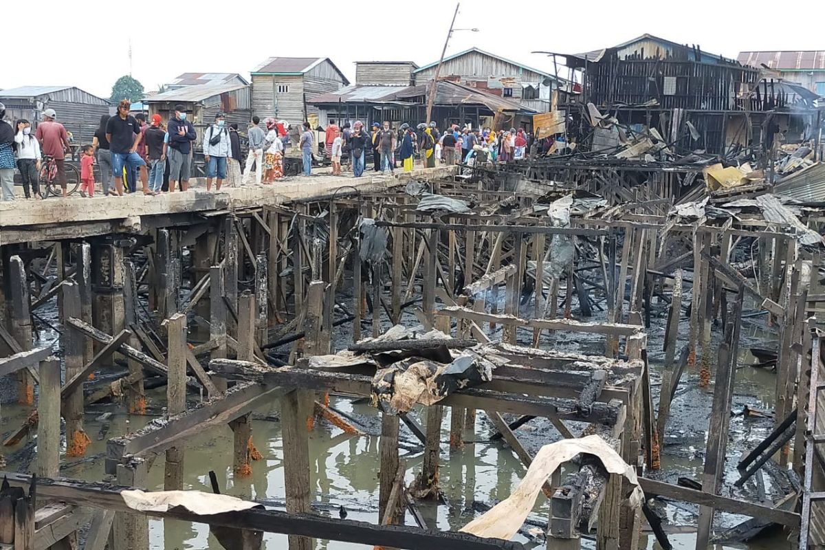
[[[117,106],[117,115],[106,123],[106,139],[111,150],[111,170],[115,176],[117,194],[123,196],[123,168],[126,172],[140,170],[140,182],[144,186],[144,195],[154,195],[148,190],[148,176],[146,162],[137,153],[138,145],[143,134],[140,125],[134,116],[129,114],[131,104],[129,100],[120,100]]]

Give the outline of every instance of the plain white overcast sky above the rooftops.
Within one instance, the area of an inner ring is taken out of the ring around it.
[[[355,61],[437,61],[454,10],[450,0],[45,0],[36,10],[4,2],[6,36],[15,42],[0,62],[0,88],[68,85],[108,97],[129,73],[130,39],[132,74],[147,91],[186,72],[248,78],[271,56],[329,57],[354,81]],[[479,32],[455,32],[447,54],[478,46],[552,73],[552,59],[530,52],[582,52],[644,33],[731,58],[740,50],[825,49],[821,17],[775,10],[765,0],[464,0],[455,26]],[[31,35],[17,41],[25,21]],[[43,31],[45,21],[54,32]]]

